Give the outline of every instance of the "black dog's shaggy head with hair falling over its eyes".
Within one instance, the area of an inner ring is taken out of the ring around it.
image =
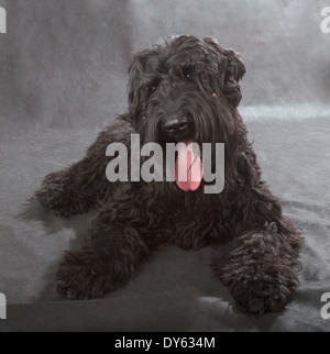
[[[213,38],[184,35],[138,53],[129,110],[142,142],[224,143],[227,166],[233,163],[244,74],[240,56]]]

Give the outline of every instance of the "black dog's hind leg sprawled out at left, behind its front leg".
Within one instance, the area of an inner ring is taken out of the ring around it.
[[[80,162],[47,175],[35,192],[36,198],[59,217],[82,213],[95,207],[107,198],[111,187],[106,178],[107,146],[112,142],[128,144],[131,133],[129,123],[116,120],[99,134]]]

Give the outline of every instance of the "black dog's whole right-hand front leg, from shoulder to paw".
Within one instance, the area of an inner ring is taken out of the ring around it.
[[[282,215],[276,197],[258,181],[256,163],[252,168],[251,161],[242,158],[245,182],[233,208],[237,236],[219,250],[213,266],[246,312],[278,312],[298,285],[301,232]]]

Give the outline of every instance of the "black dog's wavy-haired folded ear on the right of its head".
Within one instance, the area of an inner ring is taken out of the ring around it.
[[[219,66],[218,74],[222,78],[223,93],[229,103],[237,108],[242,99],[239,81],[246,73],[245,65],[238,53],[224,49],[217,40],[204,38],[204,41],[216,51]]]

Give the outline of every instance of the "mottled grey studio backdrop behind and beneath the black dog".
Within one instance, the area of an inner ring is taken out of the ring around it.
[[[11,303],[0,330],[330,330],[320,317],[320,297],[330,291],[330,34],[320,30],[329,1],[0,5],[8,14],[8,33],[0,34],[0,292]],[[306,230],[301,287],[286,313],[241,313],[209,270],[212,247],[162,247],[103,300],[54,298],[61,254],[94,213],[62,220],[26,200],[125,110],[129,57],[169,34],[215,36],[244,57],[241,112],[264,177]]]

